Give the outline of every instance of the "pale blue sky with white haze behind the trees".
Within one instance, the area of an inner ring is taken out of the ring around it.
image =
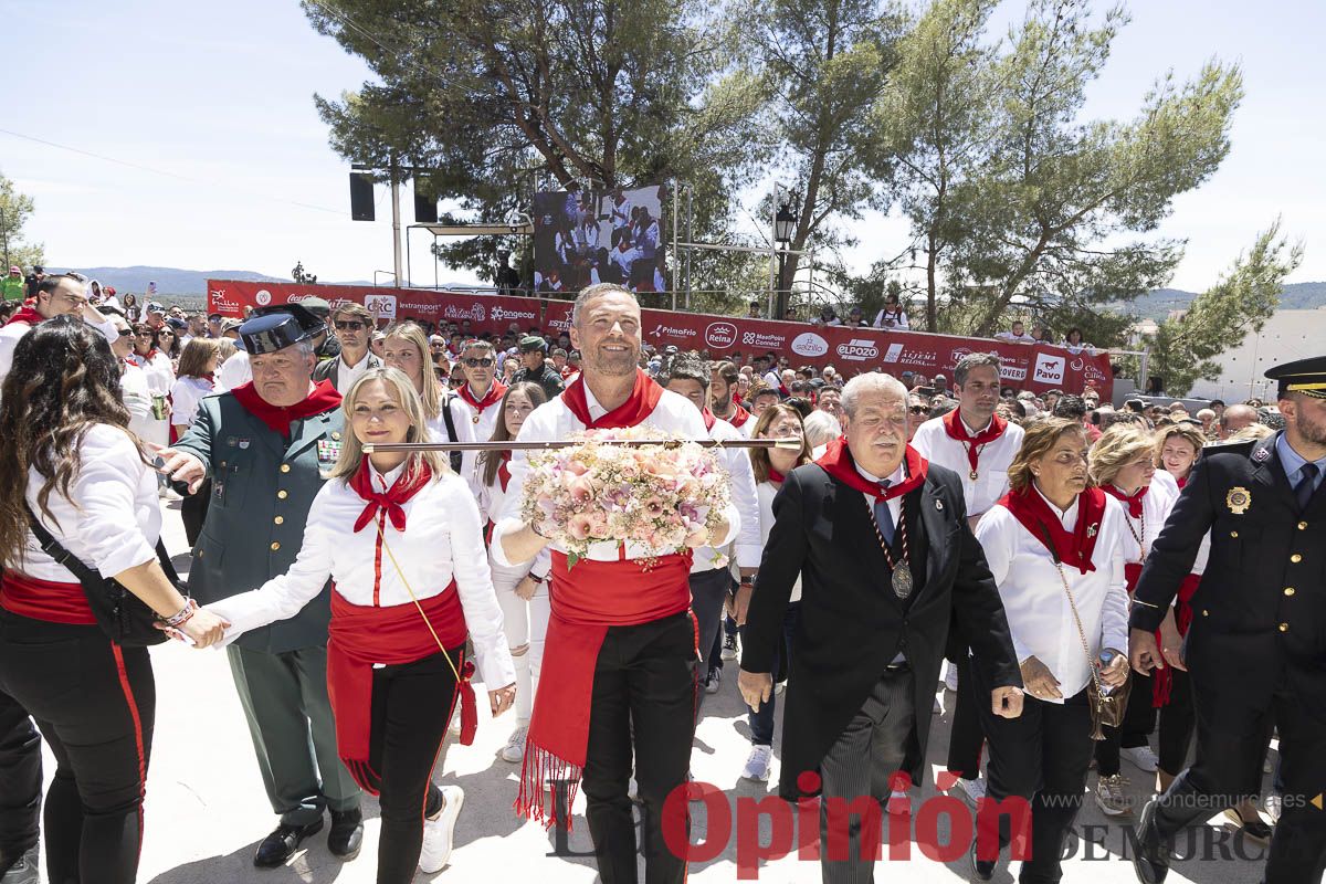
[[[998,27],[1024,5],[1008,0]],[[1244,68],[1228,159],[1162,227],[1189,240],[1174,285],[1211,285],[1277,215],[1307,245],[1292,281],[1326,280],[1326,4],[1135,0],[1130,11],[1086,115],[1130,118],[1167,69],[1183,78],[1212,56]],[[349,168],[312,102],[357,87],[369,70],[317,34],[294,0],[0,0],[0,129],[176,176],[0,133],[0,172],[36,199],[29,235],[52,265],[289,276],[302,260],[322,280],[391,268],[386,190],[375,224],[350,220]],[[408,200],[403,216],[412,221]],[[847,260],[862,270],[906,240],[902,221],[879,216],[857,233],[863,243]],[[414,276],[431,282],[427,237],[416,237]]]

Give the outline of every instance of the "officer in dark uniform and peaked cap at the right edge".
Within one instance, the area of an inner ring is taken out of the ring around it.
[[[1164,880],[1175,834],[1258,791],[1273,725],[1285,794],[1265,881],[1321,881],[1326,865],[1326,357],[1266,376],[1285,428],[1203,453],[1134,594],[1130,649],[1144,673],[1166,665],[1154,632],[1211,531],[1183,647],[1197,755],[1142,811],[1144,884]]]

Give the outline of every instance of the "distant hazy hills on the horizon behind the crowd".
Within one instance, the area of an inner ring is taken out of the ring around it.
[[[56,269],[56,268],[50,268]],[[162,297],[204,297],[208,280],[241,280],[248,282],[290,282],[281,277],[265,276],[253,270],[182,270],[164,266],[97,266],[76,268],[84,276],[98,280],[102,285],[114,286],[118,292],[141,294],[149,282],[156,282]],[[332,285],[373,285],[367,280],[332,282]],[[460,286],[460,282],[443,282],[442,288]],[[1128,305],[1138,317],[1164,319],[1171,310],[1185,309],[1197,297],[1193,292],[1180,289],[1155,289]],[[1294,282],[1286,285],[1280,296],[1282,310],[1311,310],[1326,306],[1326,282]]]

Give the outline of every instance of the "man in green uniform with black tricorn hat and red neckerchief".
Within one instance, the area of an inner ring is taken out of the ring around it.
[[[212,480],[207,521],[194,546],[188,588],[203,603],[261,586],[294,563],[321,470],[341,451],[341,394],[313,380],[325,326],[298,305],[269,307],[240,326],[253,380],[208,396],[164,470],[196,489]],[[249,630],[225,651],[248,720],[263,785],[280,824],[253,864],[284,864],[332,812],[328,848],[359,852],[359,789],[337,751],[326,685],[330,595],[322,588],[294,616]],[[312,737],[312,740],[310,740]]]

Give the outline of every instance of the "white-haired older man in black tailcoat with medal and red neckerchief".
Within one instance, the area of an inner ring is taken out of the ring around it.
[[[853,814],[849,826],[845,814],[849,855],[833,856],[842,832],[830,838],[838,802],[829,799],[882,804],[895,773],[919,770],[951,620],[971,640],[996,714],[1022,708],[1008,620],[967,525],[963,485],[907,445],[907,390],[888,375],[859,375],[843,388],[842,408],[843,437],[793,470],[774,498],[749,608],[739,600],[737,610],[747,627],[739,687],[758,708],[801,575],[778,791],[796,799],[822,783],[821,868],[833,884],[874,880],[862,843],[878,843],[879,832],[867,836],[862,823],[878,826],[879,816]]]

